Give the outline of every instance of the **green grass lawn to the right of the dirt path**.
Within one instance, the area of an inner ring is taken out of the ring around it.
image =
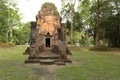
[[[56,71],[58,80],[120,80],[118,52],[73,51],[72,54],[73,64]]]

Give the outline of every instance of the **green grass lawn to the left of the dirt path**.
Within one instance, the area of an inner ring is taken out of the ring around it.
[[[37,80],[34,67],[24,64],[26,46],[0,48],[0,80]]]

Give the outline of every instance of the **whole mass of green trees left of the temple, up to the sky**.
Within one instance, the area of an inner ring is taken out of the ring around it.
[[[8,44],[28,43],[30,24],[21,23],[15,0],[0,1],[0,41]]]

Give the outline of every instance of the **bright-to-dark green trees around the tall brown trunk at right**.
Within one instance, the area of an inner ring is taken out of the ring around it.
[[[119,0],[80,1],[78,11],[83,20],[82,30],[87,44],[89,37],[93,37],[92,43],[99,46],[120,47],[119,3]]]

